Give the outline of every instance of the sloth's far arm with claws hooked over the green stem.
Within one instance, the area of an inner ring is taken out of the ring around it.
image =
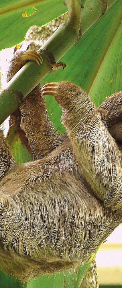
[[[43,58],[40,54],[32,50],[17,51],[10,62],[7,81],[28,61],[34,61],[38,65],[42,65]],[[46,156],[67,137],[54,131],[54,126],[50,122],[47,114],[45,99],[41,96],[40,90],[41,86],[38,84],[32,92],[27,95],[19,108],[21,111],[21,128],[25,132],[34,160]]]

